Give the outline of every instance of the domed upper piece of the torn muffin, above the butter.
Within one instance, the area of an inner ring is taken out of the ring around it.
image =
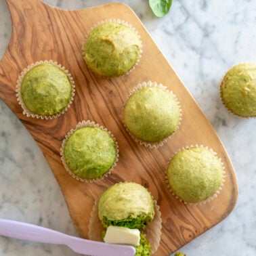
[[[100,196],[98,215],[104,227],[144,230],[154,218],[154,202],[148,190],[140,184],[119,183]]]

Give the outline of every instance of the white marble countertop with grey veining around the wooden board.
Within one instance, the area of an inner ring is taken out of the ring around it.
[[[25,1],[25,0],[17,0]],[[44,0],[64,9],[102,0]],[[194,96],[223,142],[236,171],[238,202],[221,223],[181,251],[188,256],[256,255],[256,119],[229,114],[219,100],[224,72],[240,62],[256,62],[255,0],[173,0],[164,18],[148,1],[131,6]],[[0,58],[11,35],[5,0],[0,0]],[[40,173],[40,174],[39,174]],[[44,175],[41,175],[44,173]],[[0,218],[35,223],[77,236],[60,188],[43,154],[20,121],[0,100]],[[0,255],[76,255],[64,246],[0,236]]]

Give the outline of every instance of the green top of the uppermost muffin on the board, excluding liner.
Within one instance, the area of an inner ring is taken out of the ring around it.
[[[129,71],[140,57],[142,43],[128,26],[105,22],[96,26],[84,45],[84,59],[93,72],[117,77]]]

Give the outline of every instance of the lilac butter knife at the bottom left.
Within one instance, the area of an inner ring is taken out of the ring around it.
[[[66,244],[76,253],[95,256],[133,256],[135,248],[121,244],[107,244],[68,236],[49,228],[35,226],[29,223],[0,219],[0,235],[33,242],[50,244]]]

